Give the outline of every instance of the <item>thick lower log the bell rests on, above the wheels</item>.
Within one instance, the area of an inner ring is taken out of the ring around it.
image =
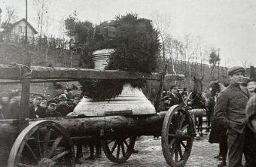
[[[53,120],[56,123],[64,126],[69,134],[72,136],[81,134],[81,126],[84,132],[96,132],[100,129],[111,128],[126,128],[126,129],[151,129],[153,126],[162,126],[163,119],[166,115],[166,111],[154,115],[146,116],[108,116],[108,117],[84,117],[84,118],[69,118],[69,117],[56,117],[47,118],[47,120]],[[29,123],[33,123],[36,120],[30,120]],[[40,119],[46,120],[46,119]],[[79,131],[78,131],[79,129]]]

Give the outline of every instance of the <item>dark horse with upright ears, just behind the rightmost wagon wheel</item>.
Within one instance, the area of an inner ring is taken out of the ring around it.
[[[206,93],[203,92],[203,77],[194,77],[194,88],[193,91],[187,96],[184,104],[192,109],[203,108],[206,109],[206,113],[209,111],[209,99]],[[195,117],[197,133],[203,135],[203,117]]]

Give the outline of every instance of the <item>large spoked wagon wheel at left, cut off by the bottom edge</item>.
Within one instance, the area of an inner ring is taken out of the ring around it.
[[[8,166],[75,166],[72,140],[58,123],[32,123],[14,142]]]

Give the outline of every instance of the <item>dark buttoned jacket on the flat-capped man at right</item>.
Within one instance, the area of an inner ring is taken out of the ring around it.
[[[242,134],[246,125],[245,108],[249,99],[247,88],[230,83],[217,98],[214,117],[227,129]]]

